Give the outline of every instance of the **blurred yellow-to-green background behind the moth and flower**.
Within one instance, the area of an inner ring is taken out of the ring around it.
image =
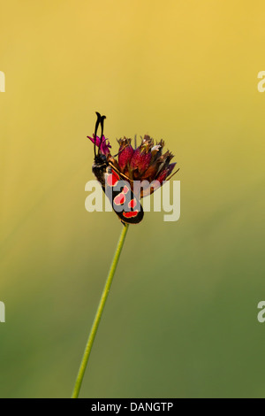
[[[81,397],[265,397],[265,4],[1,0],[0,396],[70,397],[121,225],[95,111],[163,138],[181,218],[129,228]]]

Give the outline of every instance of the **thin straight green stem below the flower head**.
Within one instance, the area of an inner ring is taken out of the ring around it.
[[[117,243],[117,249],[116,249],[116,252],[114,254],[112,264],[110,266],[110,272],[109,272],[109,275],[107,277],[105,287],[102,291],[102,297],[101,297],[100,303],[99,303],[97,311],[95,313],[95,319],[94,319],[90,334],[88,336],[86,349],[85,349],[81,364],[79,366],[79,374],[78,374],[77,379],[75,381],[74,389],[73,389],[73,392],[72,392],[72,398],[78,398],[79,397],[79,390],[80,390],[80,387],[81,387],[81,384],[82,384],[82,381],[83,381],[83,378],[84,378],[84,374],[85,374],[85,371],[86,371],[86,368],[87,368],[87,361],[88,361],[88,358],[90,356],[90,352],[92,350],[92,346],[93,346],[93,343],[94,343],[94,340],[95,340],[96,331],[97,331],[97,328],[99,326],[100,320],[102,318],[102,312],[103,312],[107,297],[109,295],[111,282],[113,280],[113,277],[114,277],[114,274],[115,274],[115,271],[116,271],[116,268],[117,268],[117,262],[118,262],[121,250],[123,248],[123,245],[125,243],[125,236],[127,234],[127,230],[128,230],[128,225],[126,224],[125,227],[123,227],[123,230],[122,230],[121,235],[119,237],[119,241]]]

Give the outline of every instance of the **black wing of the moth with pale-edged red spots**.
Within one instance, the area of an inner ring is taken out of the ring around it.
[[[122,222],[126,224],[140,223],[144,216],[140,200],[133,194],[130,183],[121,179],[111,166],[106,169],[103,189],[110,199],[113,211]]]

